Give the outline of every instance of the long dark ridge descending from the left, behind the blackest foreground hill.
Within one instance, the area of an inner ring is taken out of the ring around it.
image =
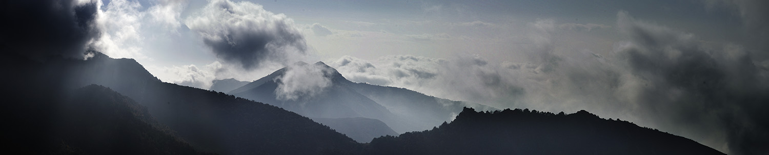
[[[161,82],[131,59],[112,59],[100,53],[88,60],[62,57],[0,59],[12,60],[9,62],[18,66],[6,70],[5,73],[14,76],[3,77],[12,81],[7,87],[2,87],[3,92],[14,92],[12,95],[18,98],[52,98],[51,101],[58,101],[78,87],[90,84],[106,86],[145,106],[159,124],[167,126],[176,136],[205,152],[318,154],[359,147],[355,140],[291,111],[221,92]],[[55,111],[59,108],[45,105],[45,101],[22,99],[14,103],[28,105],[32,110]],[[4,111],[11,109],[4,107]],[[45,120],[32,122],[56,122]],[[18,124],[28,124],[28,121]],[[58,131],[40,131],[42,134],[55,132]]]

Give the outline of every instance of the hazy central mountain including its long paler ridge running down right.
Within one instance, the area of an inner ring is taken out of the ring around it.
[[[330,86],[315,97],[297,100],[279,99],[276,89],[281,84],[281,77],[290,69],[298,67],[324,70],[325,74],[322,76],[330,79]],[[322,62],[312,65],[295,63],[293,66],[278,69],[228,94],[265,102],[310,118],[374,118],[383,121],[398,133],[433,128],[441,122],[450,121],[465,106],[484,110],[495,109],[468,102],[435,98],[408,89],[351,82],[336,69]],[[338,129],[338,131],[342,130]]]

